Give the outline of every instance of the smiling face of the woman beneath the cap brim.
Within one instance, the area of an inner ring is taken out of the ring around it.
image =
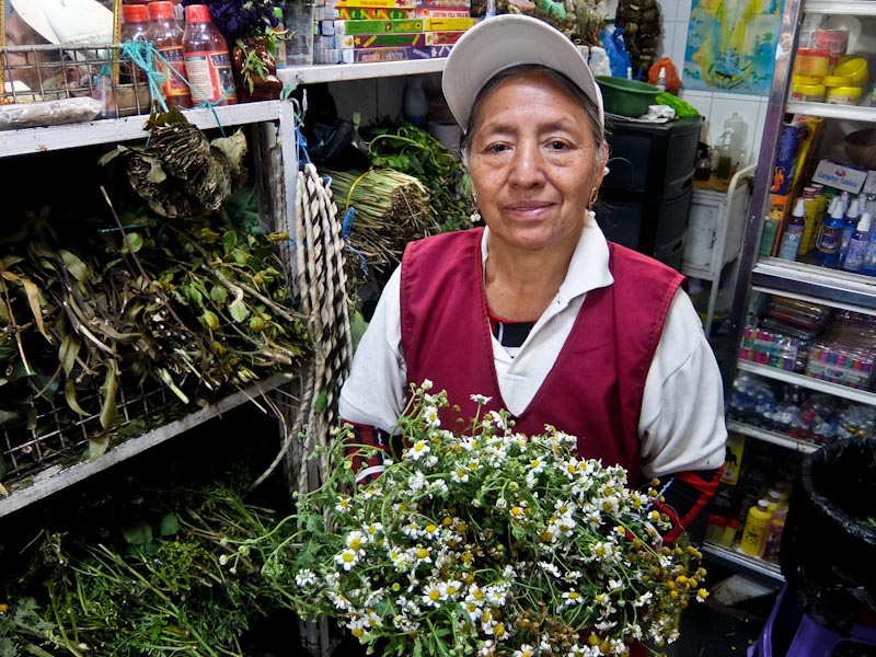
[[[580,102],[526,72],[484,97],[474,118],[469,171],[491,239],[531,251],[574,244],[607,158]]]

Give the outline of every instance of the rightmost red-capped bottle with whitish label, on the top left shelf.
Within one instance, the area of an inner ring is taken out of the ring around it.
[[[216,105],[233,105],[238,102],[228,43],[214,25],[206,4],[185,8],[183,51],[194,102],[206,101]]]

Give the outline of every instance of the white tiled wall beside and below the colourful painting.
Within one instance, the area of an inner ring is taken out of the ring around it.
[[[684,68],[684,47],[688,43],[688,24],[691,15],[691,0],[659,0],[662,13],[664,34],[658,56],[669,57],[679,74]],[[754,164],[760,150],[763,120],[766,115],[766,96],[739,93],[685,91],[682,77],[681,99],[696,107],[705,116],[707,125],[703,128],[702,140],[714,145],[724,129],[725,119],[734,112],[748,125],[746,163]]]

